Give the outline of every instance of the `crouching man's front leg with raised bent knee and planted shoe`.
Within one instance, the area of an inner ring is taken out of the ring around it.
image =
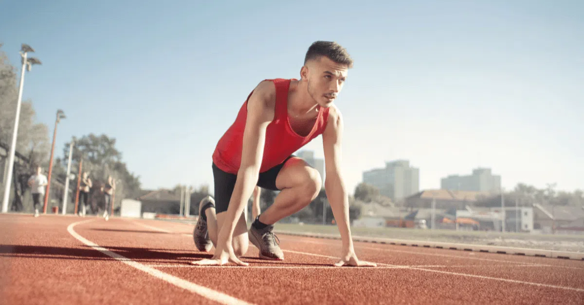
[[[261,213],[249,229],[249,240],[260,250],[260,258],[284,259],[273,234],[274,223],[310,204],[321,190],[321,184],[318,171],[298,157],[291,157],[283,165],[260,174],[260,187],[280,190],[274,204]]]

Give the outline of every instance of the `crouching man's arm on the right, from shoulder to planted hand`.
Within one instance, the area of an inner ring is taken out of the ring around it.
[[[325,154],[325,191],[331,204],[333,216],[342,239],[341,258],[336,266],[359,265],[376,266],[370,262],[357,260],[354,253],[353,238],[349,220],[349,195],[340,171],[341,144],[343,138],[343,118],[336,107],[332,107],[325,131],[322,133],[322,145]]]

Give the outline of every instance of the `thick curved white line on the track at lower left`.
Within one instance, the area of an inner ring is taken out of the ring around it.
[[[71,225],[69,225],[67,227],[67,231],[69,232],[69,234],[71,234],[73,237],[75,237],[75,239],[81,241],[82,243],[86,244],[89,247],[92,247],[94,250],[100,251],[101,253],[103,253],[109,257],[115,258],[116,260],[119,260],[119,261],[123,262],[124,264],[130,265],[131,267],[134,267],[140,271],[144,271],[147,274],[152,275],[155,278],[162,279],[163,281],[169,282],[172,285],[178,286],[182,289],[189,290],[190,292],[197,293],[197,295],[201,295],[203,297],[206,297],[207,299],[213,300],[213,301],[221,303],[221,304],[249,304],[247,302],[244,302],[243,300],[236,299],[235,297],[225,295],[224,293],[215,291],[213,289],[199,286],[195,283],[185,281],[184,279],[181,279],[181,278],[177,278],[176,276],[166,274],[162,271],[159,271],[158,269],[154,269],[154,268],[148,267],[147,265],[143,265],[143,264],[140,264],[140,263],[135,262],[133,260],[130,260],[127,257],[124,257],[124,256],[117,254],[117,253],[114,253],[112,251],[109,251],[106,248],[100,247],[98,244],[95,244],[92,241],[85,239],[81,235],[77,234],[77,232],[75,232],[75,230],[73,229],[75,226],[77,226],[81,223],[86,223],[86,222],[91,222],[91,221],[93,221],[93,219],[82,220],[80,222],[71,223]]]

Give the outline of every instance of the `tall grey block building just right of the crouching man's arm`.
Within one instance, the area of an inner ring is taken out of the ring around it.
[[[364,171],[363,182],[377,187],[381,195],[392,201],[398,201],[419,192],[420,170],[411,167],[408,160],[386,162],[384,169]]]

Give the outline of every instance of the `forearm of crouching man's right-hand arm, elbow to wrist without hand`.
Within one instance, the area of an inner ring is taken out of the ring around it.
[[[343,241],[343,249],[353,248],[349,220],[349,197],[343,180],[338,175],[327,175],[325,181],[326,197],[331,203],[332,213]]]

